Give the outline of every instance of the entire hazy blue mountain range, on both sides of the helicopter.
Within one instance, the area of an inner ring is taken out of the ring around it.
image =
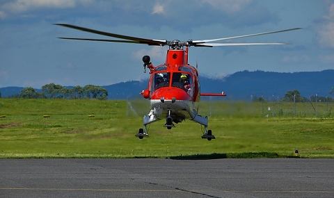
[[[246,99],[250,96],[271,99],[284,97],[289,90],[299,90],[301,96],[310,97],[318,93],[326,97],[334,87],[334,69],[321,72],[278,73],[255,71],[236,72],[221,79],[200,76],[201,92],[225,92],[227,99]],[[148,79],[143,81],[127,81],[113,85],[102,86],[108,90],[108,99],[127,99],[141,97],[142,90],[148,88]],[[19,94],[23,88],[0,88],[2,97]],[[37,90],[40,91],[40,90]]]

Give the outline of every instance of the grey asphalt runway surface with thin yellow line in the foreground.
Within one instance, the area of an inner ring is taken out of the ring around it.
[[[4,159],[0,197],[334,197],[334,159]]]

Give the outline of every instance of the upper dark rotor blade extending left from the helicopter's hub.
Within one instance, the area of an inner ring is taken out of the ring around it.
[[[99,35],[106,35],[106,36],[114,37],[114,38],[121,38],[121,39],[125,39],[125,40],[133,40],[133,41],[137,41],[137,43],[142,43],[142,44],[150,44],[150,45],[165,45],[166,44],[166,40],[150,40],[150,39],[145,39],[145,38],[132,37],[132,36],[128,36],[128,35],[107,33],[107,32],[103,32],[103,31],[95,31],[95,30],[89,29],[89,28],[73,26],[73,25],[70,25],[70,24],[55,24],[55,25],[64,26],[64,27],[67,27],[67,28],[74,28],[74,29],[77,29],[77,30],[80,30],[80,31],[86,31],[86,32],[89,32],[89,33],[96,33],[96,34],[99,34]],[[97,40],[97,41],[106,41],[106,40]],[[115,41],[112,41],[112,42],[117,42],[117,41],[115,40]],[[123,42],[123,41],[120,41],[120,42]],[[136,42],[134,42],[134,43],[136,43]]]

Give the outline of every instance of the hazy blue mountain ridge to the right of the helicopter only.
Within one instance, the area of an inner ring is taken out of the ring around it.
[[[250,99],[250,96],[269,99],[275,94],[284,97],[289,90],[299,90],[301,96],[309,98],[319,93],[326,97],[334,87],[334,70],[321,72],[237,72],[223,79],[201,79],[201,92],[224,91],[230,99]]]

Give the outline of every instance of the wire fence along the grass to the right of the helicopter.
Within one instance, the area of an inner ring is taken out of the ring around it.
[[[333,117],[333,102],[203,101],[200,114],[237,117]]]

